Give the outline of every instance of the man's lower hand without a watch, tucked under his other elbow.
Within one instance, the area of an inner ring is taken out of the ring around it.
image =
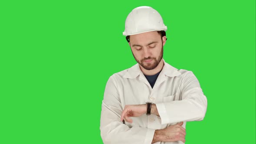
[[[185,143],[186,130],[182,127],[183,122],[171,125],[168,128],[155,130],[152,143],[158,141],[172,142],[182,141]]]

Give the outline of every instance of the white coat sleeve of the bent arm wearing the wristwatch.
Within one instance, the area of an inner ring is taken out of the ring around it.
[[[161,124],[180,121],[201,121],[207,110],[207,98],[196,76],[191,71],[184,73],[181,81],[181,100],[156,104]]]

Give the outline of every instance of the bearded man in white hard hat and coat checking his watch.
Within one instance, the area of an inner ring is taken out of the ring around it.
[[[186,121],[203,120],[207,98],[195,75],[162,59],[166,30],[151,7],[129,13],[123,34],[138,64],[108,79],[100,125],[104,144],[184,144]]]

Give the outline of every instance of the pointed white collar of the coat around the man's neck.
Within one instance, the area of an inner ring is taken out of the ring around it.
[[[164,61],[164,59],[163,59],[163,61]],[[169,77],[174,77],[174,76],[177,76],[177,75],[181,75],[181,73],[176,68],[169,65],[165,61],[164,61],[164,67],[163,67],[161,73],[163,75],[167,75]],[[141,72],[140,66],[137,63],[137,64],[133,65],[130,69],[128,69],[123,77],[128,78],[128,79],[134,79],[138,75],[143,75],[143,73]]]

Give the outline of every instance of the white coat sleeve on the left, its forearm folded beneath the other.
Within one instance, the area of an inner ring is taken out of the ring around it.
[[[154,129],[128,127],[121,122],[121,101],[113,75],[106,84],[100,120],[104,144],[151,144]]]

